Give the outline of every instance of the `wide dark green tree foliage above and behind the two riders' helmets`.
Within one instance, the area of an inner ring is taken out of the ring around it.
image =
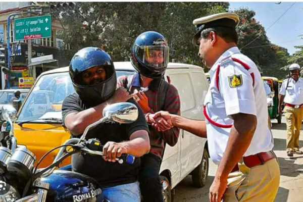
[[[66,27],[59,35],[70,50],[67,59],[86,46],[105,49],[114,61],[128,61],[135,38],[144,31],[158,31],[168,40],[171,59],[201,65],[191,44],[192,20],[226,12],[228,3],[216,2],[78,2],[78,11],[63,13]]]

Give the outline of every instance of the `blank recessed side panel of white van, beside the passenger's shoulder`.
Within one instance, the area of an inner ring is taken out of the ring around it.
[[[173,73],[169,76],[171,78],[171,83],[178,89],[181,102],[181,112],[194,108],[194,94],[189,73]]]

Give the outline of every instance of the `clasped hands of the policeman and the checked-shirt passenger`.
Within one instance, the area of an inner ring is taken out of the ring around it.
[[[173,116],[169,112],[159,111],[155,114],[147,113],[145,119],[148,124],[151,124],[158,131],[166,131],[174,127]]]

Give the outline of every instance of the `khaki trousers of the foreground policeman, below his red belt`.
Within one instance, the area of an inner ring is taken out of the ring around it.
[[[280,168],[276,159],[248,168],[238,164],[239,171],[228,175],[223,202],[272,202],[279,188]]]

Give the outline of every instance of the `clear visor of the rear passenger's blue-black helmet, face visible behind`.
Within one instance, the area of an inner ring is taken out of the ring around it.
[[[137,60],[150,68],[166,68],[168,64],[169,47],[164,45],[136,46],[134,54]]]

